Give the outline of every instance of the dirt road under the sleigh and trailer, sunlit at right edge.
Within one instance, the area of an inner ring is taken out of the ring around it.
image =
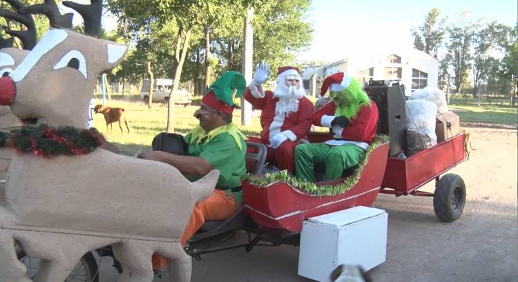
[[[374,206],[389,214],[389,229],[387,261],[369,272],[375,282],[518,281],[517,132],[470,131],[476,150],[450,170],[467,187],[461,219],[440,222],[430,197],[382,194],[376,199]],[[428,184],[423,190],[432,188]],[[296,247],[230,250],[193,261],[192,281],[310,281],[297,276],[297,267]],[[116,277],[113,269],[101,272],[102,282]]]

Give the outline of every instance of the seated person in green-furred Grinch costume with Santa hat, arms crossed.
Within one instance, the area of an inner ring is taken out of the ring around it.
[[[295,150],[296,175],[306,181],[315,181],[315,164],[325,164],[324,180],[339,179],[343,170],[358,164],[376,136],[378,108],[356,79],[343,72],[332,74],[324,80],[320,95],[327,89],[332,103],[315,112],[312,122],[331,128],[333,139],[298,145]]]

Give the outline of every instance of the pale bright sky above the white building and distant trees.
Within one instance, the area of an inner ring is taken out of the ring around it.
[[[307,21],[313,23],[313,41],[297,60],[335,61],[347,54],[370,52],[379,46],[412,47],[411,28],[424,22],[432,9],[441,9],[447,22],[517,22],[517,0],[313,0]]]

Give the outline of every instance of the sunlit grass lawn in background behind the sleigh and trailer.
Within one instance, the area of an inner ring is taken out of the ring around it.
[[[314,101],[313,98],[310,98]],[[101,103],[100,99],[95,100],[95,104]],[[106,101],[106,105],[111,107],[122,107],[126,109],[128,117],[131,119],[131,134],[120,133],[118,125],[113,124],[113,132],[106,132],[106,125],[102,114],[94,115],[94,125],[102,132],[108,141],[111,141],[122,150],[124,154],[135,154],[143,150],[151,150],[153,137],[166,130],[167,108],[161,103],[153,103],[153,108],[148,107],[140,101],[138,95],[112,95],[112,101]],[[200,105],[200,98],[195,98],[192,105],[175,106],[175,132],[179,134],[188,133],[198,120],[193,117],[193,113]],[[498,105],[459,105],[452,104],[449,107],[459,115],[461,122],[477,123],[499,123],[506,125],[517,125],[517,108]],[[250,126],[241,125],[240,110],[234,111],[233,121],[238,125],[244,135],[258,136],[260,132],[259,122],[260,112],[256,112],[252,118]],[[320,130],[319,130],[320,131]]]

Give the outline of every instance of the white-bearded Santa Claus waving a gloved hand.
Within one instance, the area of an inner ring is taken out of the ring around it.
[[[267,161],[275,163],[280,170],[294,173],[294,149],[311,128],[314,107],[305,97],[298,68],[278,68],[274,92],[262,88],[262,83],[269,78],[268,74],[269,66],[266,63],[258,65],[252,82],[244,92],[244,99],[253,108],[262,111],[260,138],[249,137],[248,140],[267,145]]]

